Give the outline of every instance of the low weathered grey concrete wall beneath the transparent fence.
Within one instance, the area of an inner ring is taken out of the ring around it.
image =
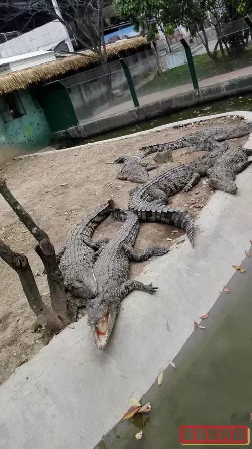
[[[186,107],[250,91],[252,91],[252,76],[248,75],[246,77],[228,80],[224,83],[207,86],[199,90],[196,89],[184,94],[175,95],[170,98],[164,98],[161,101],[155,101],[154,103],[130,109],[119,114],[79,124],[68,130],[54,133],[53,137],[55,140],[63,140],[96,136],[164,114],[171,114]]]

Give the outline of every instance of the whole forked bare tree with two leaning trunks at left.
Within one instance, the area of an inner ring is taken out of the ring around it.
[[[4,178],[0,179],[0,194],[38,241],[35,251],[45,267],[52,308],[49,309],[42,301],[29,261],[25,255],[12,251],[9,246],[0,240],[0,257],[19,275],[27,301],[31,310],[37,316],[38,323],[49,331],[59,332],[69,322],[69,318],[63,276],[57,263],[54,246],[45,231],[34,223],[30,215],[14,198],[6,186]]]

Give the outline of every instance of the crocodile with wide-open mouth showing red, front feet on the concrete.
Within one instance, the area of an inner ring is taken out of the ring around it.
[[[115,209],[113,216],[124,225],[105,246],[94,264],[97,295],[87,301],[88,325],[93,330],[98,349],[104,349],[111,334],[122,299],[133,289],[154,293],[156,287],[127,280],[129,261],[145,261],[152,255],[166,254],[169,249],[150,247],[142,252],[133,249],[139,231],[138,217],[131,211]]]

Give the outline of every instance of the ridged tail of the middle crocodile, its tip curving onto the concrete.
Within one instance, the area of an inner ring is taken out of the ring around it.
[[[129,209],[138,215],[140,221],[166,223],[183,229],[194,246],[194,221],[187,211],[165,206],[157,202],[141,201],[139,207],[134,207],[130,201]]]

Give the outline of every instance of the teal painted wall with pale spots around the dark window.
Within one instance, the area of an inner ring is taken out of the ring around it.
[[[0,118],[0,146],[22,150],[40,150],[51,140],[52,132],[42,107],[35,104],[27,89],[18,92],[25,115],[4,123]]]

